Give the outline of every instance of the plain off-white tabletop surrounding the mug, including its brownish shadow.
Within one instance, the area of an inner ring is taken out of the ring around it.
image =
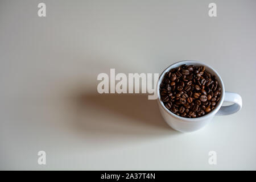
[[[0,1],[0,169],[256,169],[256,1],[43,1],[39,18],[40,2]],[[242,110],[181,134],[146,95],[97,93],[110,68],[180,60],[216,69]]]

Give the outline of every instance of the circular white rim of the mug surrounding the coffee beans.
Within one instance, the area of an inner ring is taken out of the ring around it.
[[[177,64],[179,64],[179,65],[182,65],[182,64],[188,64],[188,65],[200,64],[200,65],[203,65],[204,67],[207,67],[207,69],[209,68],[214,73],[214,75],[218,78],[218,80],[220,81],[220,83],[219,83],[221,85],[220,101],[218,102],[217,106],[212,111],[210,111],[208,114],[205,114],[204,116],[197,117],[197,118],[184,118],[184,117],[181,117],[179,115],[176,115],[176,114],[172,113],[170,110],[168,110],[166,108],[166,106],[164,106],[163,101],[161,100],[161,96],[160,96],[160,84],[161,84],[166,72],[170,71],[170,69],[172,69],[172,68],[179,67],[179,66],[176,66]],[[172,117],[183,120],[182,122],[184,122],[184,121],[188,121],[188,122],[202,121],[204,119],[208,119],[210,117],[213,117],[217,113],[217,111],[220,109],[220,107],[221,107],[221,105],[224,101],[224,94],[225,94],[224,83],[222,81],[221,76],[218,74],[218,72],[215,69],[213,69],[212,67],[210,67],[208,64],[205,64],[205,63],[202,63],[202,62],[196,61],[196,60],[183,60],[183,61],[178,61],[178,62],[175,62],[174,64],[171,64],[166,69],[164,69],[164,71],[161,73],[161,75],[159,76],[159,79],[158,79],[158,84],[157,84],[157,95],[158,95],[158,102],[159,102],[160,106],[162,106],[164,108],[164,111],[166,111],[168,114],[172,115]]]

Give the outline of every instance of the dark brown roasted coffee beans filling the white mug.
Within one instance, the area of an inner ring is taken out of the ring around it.
[[[185,118],[197,118],[209,113],[220,100],[221,86],[216,76],[204,66],[181,65],[164,75],[160,84],[164,106]]]

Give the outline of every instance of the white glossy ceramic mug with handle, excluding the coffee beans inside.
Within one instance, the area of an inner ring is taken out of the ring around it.
[[[195,66],[200,66],[203,65],[205,67],[205,71],[208,71],[210,74],[215,75],[218,84],[221,86],[221,95],[220,95],[220,101],[218,101],[217,106],[215,109],[210,111],[210,113],[204,115],[203,117],[198,117],[198,118],[184,118],[180,117],[179,115],[176,115],[172,113],[170,110],[168,110],[160,97],[160,84],[164,78],[164,75],[170,71],[172,68],[179,67],[180,65],[195,65]],[[180,61],[175,64],[170,65],[170,67],[166,68],[163,73],[160,75],[156,92],[158,94],[158,105],[160,109],[160,113],[162,114],[162,117],[164,120],[170,125],[173,129],[180,131],[180,132],[192,132],[201,129],[205,125],[207,125],[210,120],[214,117],[214,115],[228,115],[228,114],[233,114],[236,113],[237,111],[241,110],[242,108],[242,98],[239,94],[237,93],[232,93],[232,92],[225,92],[224,84],[223,81],[218,75],[218,73],[209,65],[200,63],[199,61]],[[222,106],[223,102],[233,102],[233,105],[230,106]]]

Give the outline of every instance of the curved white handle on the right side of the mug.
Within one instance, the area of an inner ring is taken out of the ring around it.
[[[242,108],[242,97],[240,94],[225,92],[224,102],[233,102],[230,106],[221,106],[216,115],[229,115],[240,111]]]

